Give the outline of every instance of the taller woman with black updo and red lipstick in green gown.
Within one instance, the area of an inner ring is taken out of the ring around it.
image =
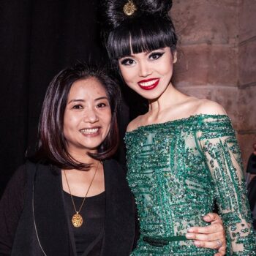
[[[132,255],[218,255],[219,238],[208,236],[216,240],[215,247],[208,244],[215,249],[209,249],[188,240],[195,234],[187,233],[206,225],[202,216],[213,211],[215,201],[226,229],[227,255],[255,255],[230,118],[216,102],[190,97],[171,83],[177,61],[177,37],[168,15],[172,1],[105,3],[110,59],[127,86],[148,99],[148,112],[130,122],[125,136],[127,180],[140,220]],[[206,233],[203,227],[198,230]]]

